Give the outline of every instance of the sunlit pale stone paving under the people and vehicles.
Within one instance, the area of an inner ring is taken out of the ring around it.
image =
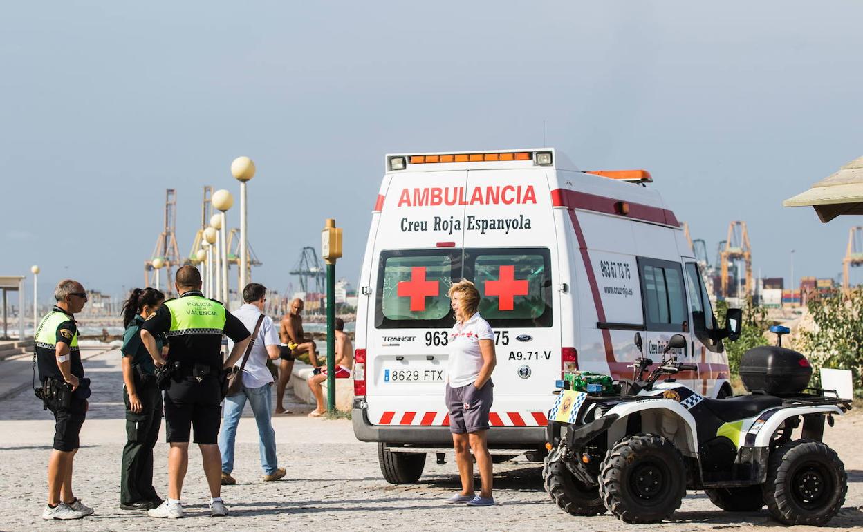
[[[3,530],[754,530],[785,529],[765,511],[730,514],[718,510],[698,491],[690,491],[671,523],[631,526],[610,516],[577,518],[552,504],[542,489],[535,464],[494,466],[494,508],[450,506],[442,500],[458,487],[455,464],[426,462],[422,484],[394,486],[381,479],[375,444],[354,439],[350,422],[306,416],[281,416],[274,421],[280,466],[286,479],[263,483],[254,419],[243,418],[237,443],[239,484],[223,491],[232,517],[212,519],[200,454],[192,450],[183,500],[189,518],[165,523],[142,513],[120,510],[118,480],[125,441],[122,379],[116,351],[85,362],[93,379],[91,417],[81,435],[76,459],[76,494],[97,515],[74,523],[43,523],[45,461],[50,453],[53,422],[32,397],[21,391],[0,401],[0,529]],[[292,410],[304,405],[293,405]],[[310,407],[305,407],[306,410]],[[247,409],[249,411],[249,409]],[[164,434],[164,429],[162,431]],[[833,529],[863,529],[863,455],[855,439],[863,434],[863,416],[837,419],[827,440],[845,461],[849,493]],[[164,496],[167,445],[157,446],[155,483]],[[791,530],[805,530],[792,527]],[[814,529],[813,529],[814,530]]]

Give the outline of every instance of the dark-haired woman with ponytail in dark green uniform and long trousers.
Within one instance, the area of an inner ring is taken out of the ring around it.
[[[165,295],[154,288],[135,288],[123,304],[123,403],[126,404],[126,446],[120,474],[120,508],[149,510],[164,501],[153,487],[153,448],[161,425],[161,390],[155,366],[141,341],[141,325],[159,310]],[[156,336],[156,347],[167,354],[167,338]]]

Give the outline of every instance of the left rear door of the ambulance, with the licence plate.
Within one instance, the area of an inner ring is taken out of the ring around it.
[[[369,421],[443,425],[447,291],[462,277],[467,171],[394,172],[372,260]]]

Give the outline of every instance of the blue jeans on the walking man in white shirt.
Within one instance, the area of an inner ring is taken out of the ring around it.
[[[260,388],[246,388],[235,396],[224,398],[224,422],[222,432],[218,435],[218,448],[222,452],[222,471],[234,471],[234,441],[236,441],[236,425],[240,422],[246,400],[252,404],[252,413],[258,424],[258,435],[261,438],[261,469],[265,475],[275,473],[279,466],[275,455],[275,430],[273,429],[273,387],[263,385]]]

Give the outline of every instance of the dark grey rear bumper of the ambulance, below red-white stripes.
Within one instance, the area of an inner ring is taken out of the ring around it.
[[[386,443],[410,443],[422,445],[452,445],[449,427],[422,427],[406,425],[373,425],[369,422],[367,409],[355,408],[351,412],[354,435],[359,441],[383,441]],[[545,445],[543,427],[492,427],[488,430],[488,444],[501,445]]]

